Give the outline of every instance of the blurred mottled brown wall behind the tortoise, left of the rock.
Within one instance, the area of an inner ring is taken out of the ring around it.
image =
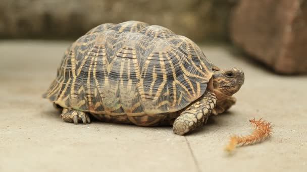
[[[103,23],[139,20],[193,40],[225,39],[233,1],[2,0],[0,37],[76,38]]]

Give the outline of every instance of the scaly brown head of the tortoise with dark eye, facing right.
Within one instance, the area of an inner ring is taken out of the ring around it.
[[[221,93],[232,96],[244,83],[244,72],[239,68],[214,71],[213,87]]]

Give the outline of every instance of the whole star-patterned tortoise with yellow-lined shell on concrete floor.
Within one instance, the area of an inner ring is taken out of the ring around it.
[[[220,69],[190,39],[127,21],[71,44],[43,97],[63,109],[65,122],[173,125],[184,135],[229,109],[243,82],[241,69]]]

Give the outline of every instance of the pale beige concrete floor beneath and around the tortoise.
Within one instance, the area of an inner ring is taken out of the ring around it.
[[[240,67],[245,84],[230,112],[187,136],[171,127],[64,123],[41,94],[68,42],[0,42],[0,171],[306,171],[307,77],[275,75],[229,47],[202,46],[219,67]],[[261,143],[223,151],[229,136],[274,125]]]

